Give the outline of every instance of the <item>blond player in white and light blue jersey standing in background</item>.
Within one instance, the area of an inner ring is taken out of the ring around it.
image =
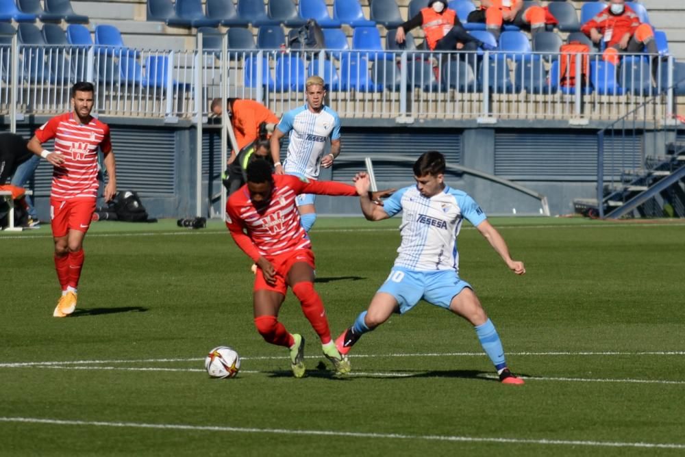
[[[271,157],[276,174],[295,174],[303,179],[318,179],[319,170],[329,168],[340,154],[340,118],[323,104],[326,96],[325,82],[312,76],[306,82],[307,103],[291,109],[283,115],[281,122],[271,135]],[[288,153],[283,166],[280,162],[280,140],[289,133]],[[327,139],[331,139],[330,152],[326,155]],[[306,231],[316,221],[314,195],[297,197],[297,207]]]

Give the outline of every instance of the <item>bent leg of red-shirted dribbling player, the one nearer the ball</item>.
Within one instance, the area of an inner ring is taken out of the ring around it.
[[[262,272],[258,272],[261,275]],[[283,346],[290,351],[290,365],[295,378],[304,376],[304,338],[298,334],[291,334],[278,321],[278,311],[285,296],[273,290],[258,289],[254,292],[254,322],[257,331],[267,343]]]

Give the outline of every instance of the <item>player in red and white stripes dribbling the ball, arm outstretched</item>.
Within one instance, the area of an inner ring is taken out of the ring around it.
[[[257,263],[254,322],[264,340],[288,348],[293,374],[304,375],[304,339],[277,320],[290,286],[321,339],[323,354],[344,374],[349,361],[331,339],[323,302],[314,290],[314,253],[295,205],[299,194],[357,195],[353,186],[343,183],[272,174],[270,164],[256,160],[247,166],[247,184],[226,203],[226,226],[238,247]]]

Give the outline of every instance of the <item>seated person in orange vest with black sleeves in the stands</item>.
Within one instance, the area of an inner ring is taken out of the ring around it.
[[[406,33],[419,25],[431,51],[475,51],[477,47],[484,46],[464,29],[457,13],[447,8],[447,0],[429,0],[427,8],[397,27],[395,41],[402,44]]]

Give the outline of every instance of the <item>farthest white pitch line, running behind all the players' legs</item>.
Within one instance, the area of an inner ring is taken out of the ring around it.
[[[685,223],[682,222],[669,222],[661,223],[655,222],[653,224],[627,224],[627,223],[616,223],[616,224],[539,224],[539,225],[510,225],[510,226],[497,226],[497,230],[512,230],[512,229],[599,229],[607,227],[671,227],[671,226],[684,226]],[[475,227],[463,227],[463,230],[474,230]],[[314,233],[345,233],[345,232],[396,232],[399,231],[399,227],[379,227],[378,229],[317,229]],[[128,232],[128,233],[89,233],[88,238],[108,238],[108,237],[153,237],[153,236],[182,236],[182,235],[220,235],[225,233],[228,235],[228,231],[224,230],[202,230],[202,231],[190,231],[187,232]],[[40,238],[52,238],[52,235],[0,235],[0,240],[2,239],[40,239]]]

